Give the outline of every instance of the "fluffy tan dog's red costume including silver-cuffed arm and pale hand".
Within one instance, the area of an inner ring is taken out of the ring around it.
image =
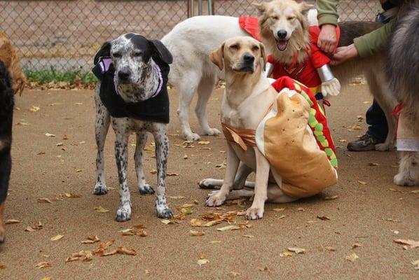
[[[240,17],[239,25],[247,31],[256,40],[261,41],[259,35],[259,22],[258,18],[255,17]],[[337,37],[339,39],[340,29],[337,28]],[[317,102],[322,104],[323,97],[327,95],[337,95],[341,90],[341,84],[333,76],[329,69],[330,59],[327,55],[317,47],[317,39],[320,34],[320,28],[318,26],[310,26],[310,48],[305,51],[310,55],[308,59],[301,63],[294,61],[287,65],[280,61],[275,60],[272,55],[269,55],[268,62],[271,65],[267,66],[267,73],[270,74],[270,68],[272,71],[272,78],[275,80],[282,76],[288,76],[298,82],[303,83],[310,88],[311,92],[315,94]]]

